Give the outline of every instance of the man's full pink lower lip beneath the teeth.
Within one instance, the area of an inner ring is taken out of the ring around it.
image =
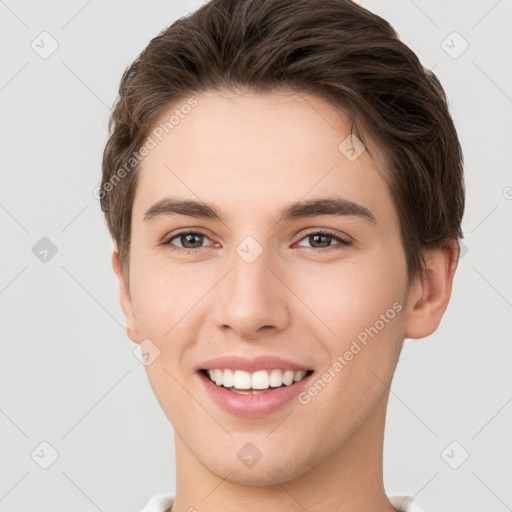
[[[266,393],[245,395],[228,391],[222,386],[217,386],[203,373],[198,372],[198,374],[206,391],[221,409],[235,416],[245,418],[260,418],[281,409],[308,385],[313,375],[311,373],[300,382],[294,382],[289,386],[270,388],[271,391]]]

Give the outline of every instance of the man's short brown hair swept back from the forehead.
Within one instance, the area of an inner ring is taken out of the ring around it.
[[[99,197],[127,281],[133,155],[157,119],[201,92],[282,88],[349,112],[383,150],[409,281],[425,249],[462,237],[463,155],[446,95],[387,21],[350,0],[211,0],[152,39],[121,79]]]

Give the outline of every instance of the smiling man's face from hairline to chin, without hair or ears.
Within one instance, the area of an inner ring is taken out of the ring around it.
[[[285,482],[342,453],[383,410],[408,310],[399,218],[377,149],[351,146],[325,101],[196,100],[142,162],[124,310],[195,460],[233,482]],[[192,201],[209,208],[177,203]],[[210,362],[224,356],[241,359]],[[243,394],[199,371],[215,368],[308,373]]]

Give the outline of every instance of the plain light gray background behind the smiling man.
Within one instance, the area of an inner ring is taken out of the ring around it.
[[[467,252],[440,328],[404,347],[386,489],[430,512],[511,510],[512,2],[362,3],[434,68],[466,158]],[[2,512],[137,511],[174,490],[172,427],[125,334],[93,190],[123,70],[201,4],[0,1]],[[43,31],[59,45],[46,59]]]

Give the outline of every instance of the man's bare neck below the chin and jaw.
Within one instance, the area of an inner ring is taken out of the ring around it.
[[[175,434],[176,493],[172,512],[396,512],[382,481],[388,395],[338,450],[299,477],[269,475],[268,485],[242,485],[202,465]],[[286,468],[286,464],[284,464]],[[283,482],[283,483],[281,483]]]

